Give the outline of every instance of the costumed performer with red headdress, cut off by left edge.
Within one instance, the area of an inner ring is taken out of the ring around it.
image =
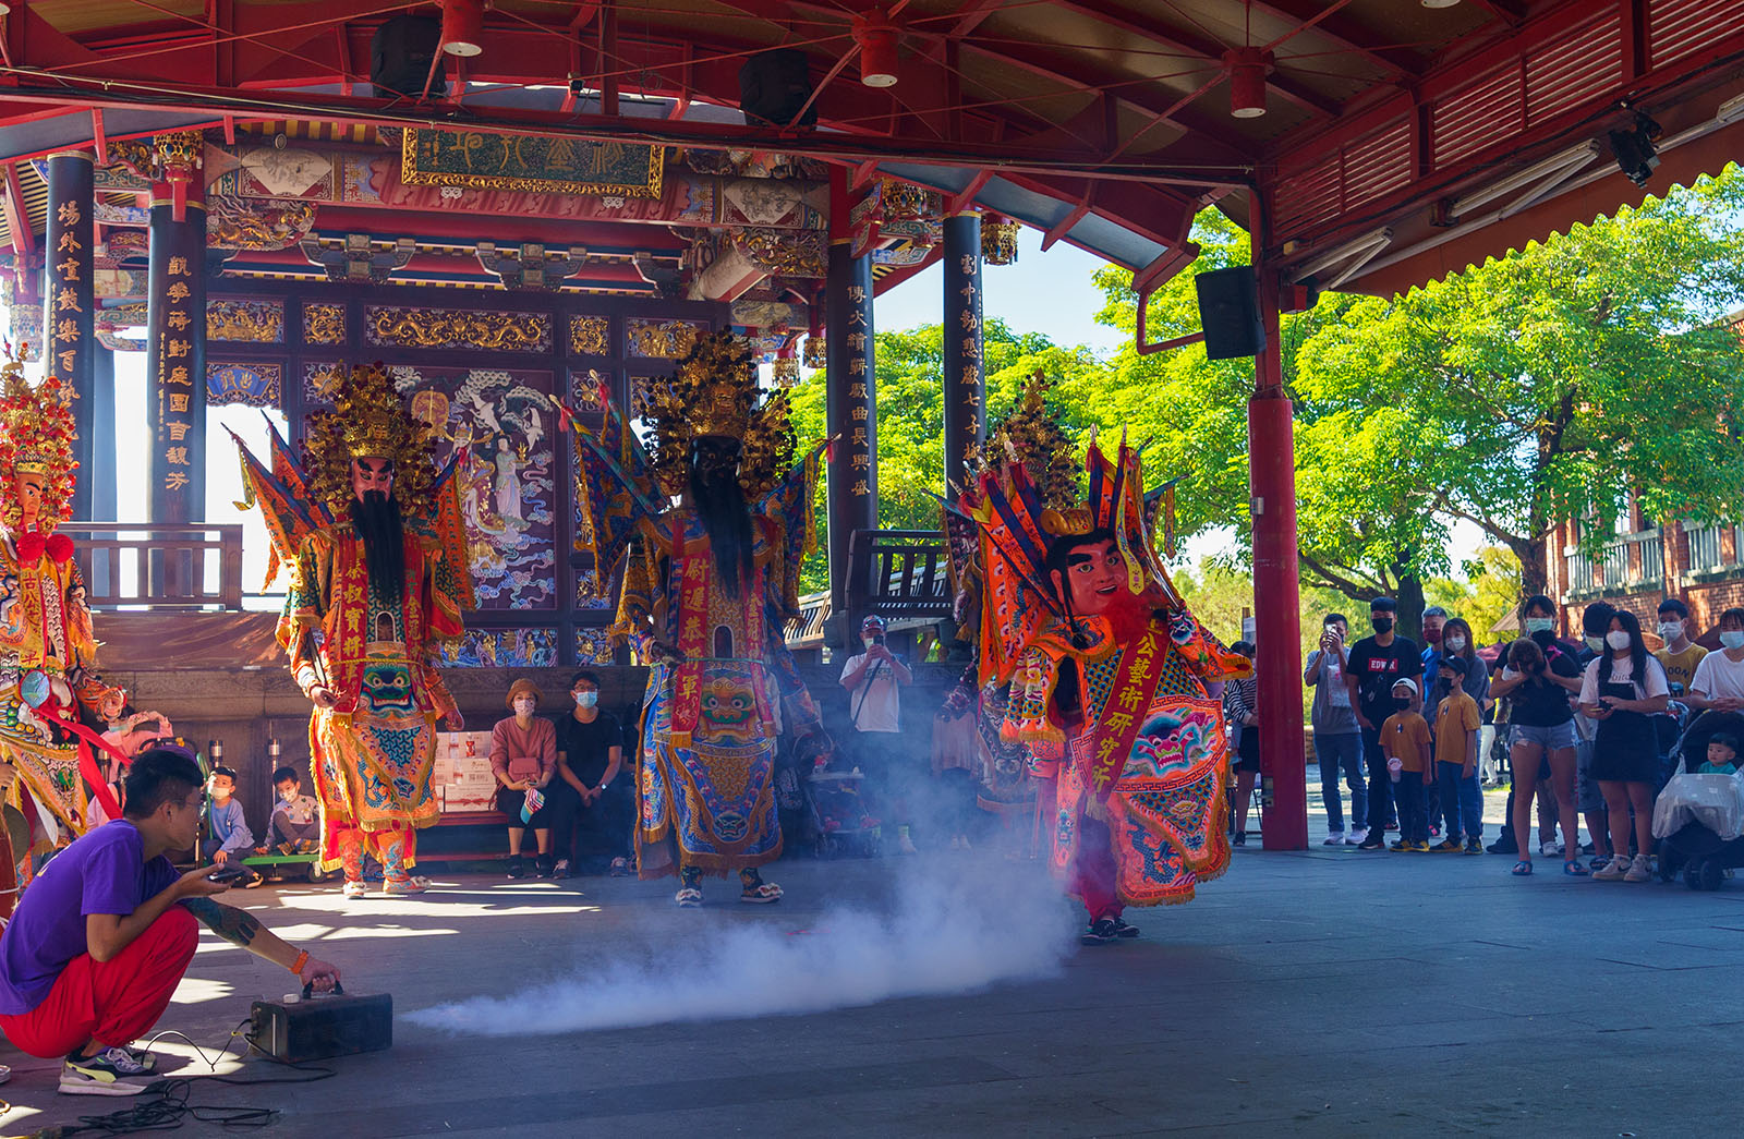
[[[80,705],[98,712],[113,692],[96,675],[73,542],[56,534],[73,495],[75,438],[72,392],[56,377],[31,385],[16,359],[0,366],[0,785],[35,849],[82,835],[92,795],[120,815],[89,752],[94,733],[78,722]],[[0,844],[3,916],[26,851],[12,851],[5,827]]]

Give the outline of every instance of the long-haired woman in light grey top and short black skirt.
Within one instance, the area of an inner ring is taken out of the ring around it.
[[[1666,710],[1671,685],[1666,668],[1648,654],[1641,621],[1627,609],[1611,614],[1604,654],[1587,665],[1580,710],[1599,722],[1592,740],[1592,778],[1599,781],[1611,820],[1611,860],[1594,879],[1645,883],[1653,877],[1653,774],[1659,733],[1650,717]],[[1636,856],[1629,858],[1629,813],[1634,811]]]

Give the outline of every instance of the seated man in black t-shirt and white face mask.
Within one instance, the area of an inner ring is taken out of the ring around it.
[[[558,876],[576,874],[582,856],[630,870],[630,829],[635,822],[633,774],[624,774],[624,729],[610,712],[600,712],[600,677],[582,670],[569,682],[576,701],[556,720],[556,780],[551,804],[553,849]],[[570,827],[581,823],[570,839]],[[569,858],[563,858],[569,855]],[[567,865],[565,865],[567,863]]]

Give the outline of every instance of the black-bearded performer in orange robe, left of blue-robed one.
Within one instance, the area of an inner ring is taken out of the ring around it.
[[[272,462],[242,441],[242,478],[272,535],[269,581],[290,590],[277,638],[314,703],[310,769],[321,799],[321,869],[361,897],[363,855],[384,893],[415,893],[417,829],[439,815],[431,790],[436,720],[460,712],[436,670],[438,644],[473,607],[453,464],[438,474],[429,426],[380,366],[352,368],[333,410],[309,417],[303,464],[272,431]]]

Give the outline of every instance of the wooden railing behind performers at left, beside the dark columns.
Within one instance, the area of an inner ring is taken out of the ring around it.
[[[242,527],[61,523],[91,609],[241,609]]]

